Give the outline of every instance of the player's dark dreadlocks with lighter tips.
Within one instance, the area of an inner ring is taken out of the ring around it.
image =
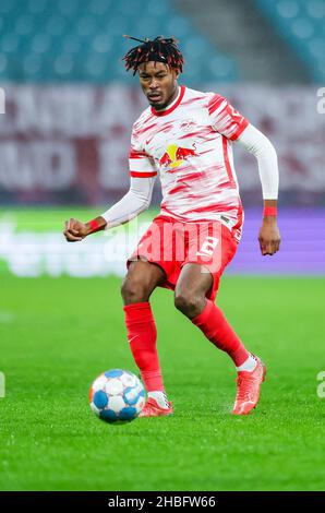
[[[143,40],[131,36],[124,37],[142,43],[142,45],[131,48],[131,50],[129,50],[123,57],[127,71],[132,69],[133,75],[135,75],[140,64],[151,60],[155,62],[164,62],[170,68],[177,68],[182,72],[184,59],[177,47],[178,40],[174,37],[166,38],[164,36],[158,36],[153,40],[148,38]]]

